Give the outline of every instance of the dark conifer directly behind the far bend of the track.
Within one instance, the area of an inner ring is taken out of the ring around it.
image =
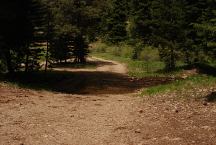
[[[107,1],[106,13],[103,16],[103,33],[105,40],[118,43],[127,38],[128,2],[126,0]]]

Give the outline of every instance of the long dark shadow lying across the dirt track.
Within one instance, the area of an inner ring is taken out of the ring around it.
[[[124,94],[143,87],[170,83],[165,77],[147,77],[132,80],[126,75],[110,72],[50,71],[31,74],[5,75],[1,81],[15,83],[20,87],[48,90],[68,94]]]

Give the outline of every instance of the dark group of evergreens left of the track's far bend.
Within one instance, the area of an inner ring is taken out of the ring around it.
[[[94,1],[3,0],[0,7],[1,70],[28,72],[47,69],[49,62],[86,61],[98,22]]]

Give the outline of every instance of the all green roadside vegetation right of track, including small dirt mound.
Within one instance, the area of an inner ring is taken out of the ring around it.
[[[216,69],[213,62],[189,66],[178,61],[176,68],[168,71],[160,59],[158,49],[143,46],[138,58],[133,59],[133,46],[126,43],[113,46],[96,42],[92,44],[91,55],[126,64],[128,75],[133,79],[167,77],[174,80],[169,84],[145,88],[141,91],[141,96],[174,94],[175,99],[203,99],[205,95],[216,90]]]

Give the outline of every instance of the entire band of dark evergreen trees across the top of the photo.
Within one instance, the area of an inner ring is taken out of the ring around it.
[[[214,0],[2,0],[0,69],[32,71],[41,62],[84,63],[88,44],[154,46],[167,69],[216,54]],[[133,58],[139,49],[134,47]],[[24,67],[24,68],[23,68]]]

